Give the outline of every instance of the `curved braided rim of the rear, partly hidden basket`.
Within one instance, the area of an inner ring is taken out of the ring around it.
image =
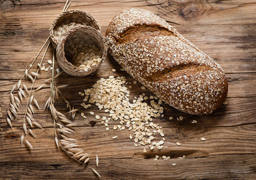
[[[101,27],[100,27],[99,23],[97,22],[97,20],[91,14],[89,14],[85,11],[79,10],[79,9],[66,10],[66,11],[62,12],[58,17],[56,17],[56,19],[53,21],[53,23],[50,26],[50,30],[49,30],[50,31],[50,38],[51,38],[51,41],[54,44],[58,45],[58,42],[56,41],[56,38],[54,36],[54,28],[56,27],[56,24],[58,23],[60,18],[62,18],[65,15],[68,15],[68,14],[76,14],[76,13],[85,15],[87,18],[91,19],[96,24],[96,26],[99,28],[99,29],[96,29],[96,30],[99,30],[101,32]],[[74,27],[76,27],[76,26],[74,26]]]

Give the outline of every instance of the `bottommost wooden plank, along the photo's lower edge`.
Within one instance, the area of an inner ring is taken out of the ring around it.
[[[100,159],[97,170],[101,179],[255,179],[255,161],[253,154],[168,160]],[[0,165],[4,179],[97,179],[89,168],[62,157],[48,158],[44,163],[26,160]]]

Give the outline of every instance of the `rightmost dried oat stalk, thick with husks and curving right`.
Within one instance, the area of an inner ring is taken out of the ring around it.
[[[64,101],[67,103],[67,108],[69,108],[70,115],[74,119],[78,108],[76,108],[72,103],[70,103],[64,95],[61,93],[59,88],[65,87],[67,85],[60,85],[57,86],[55,82],[56,76],[54,76],[54,62],[55,62],[55,54],[53,53],[53,70],[52,70],[52,77],[51,77],[51,94],[48,100],[46,101],[45,108],[49,108],[52,115],[53,115],[53,123],[54,123],[54,132],[55,132],[55,142],[57,147],[65,151],[71,158],[77,160],[79,163],[87,164],[89,162],[89,155],[90,153],[85,152],[82,148],[79,147],[77,143],[78,140],[74,138],[67,137],[66,134],[74,133],[75,131],[72,129],[72,126],[77,125],[72,120],[68,119],[66,115],[59,112],[54,106],[54,99],[58,97],[58,94],[62,96]],[[96,163],[98,167],[99,159],[98,155],[96,156]],[[88,166],[88,165],[86,165]],[[100,176],[100,174],[92,167],[88,166],[92,169],[92,171]]]

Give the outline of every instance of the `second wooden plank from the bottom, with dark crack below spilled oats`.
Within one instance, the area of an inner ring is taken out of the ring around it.
[[[132,134],[128,129],[115,131],[112,125],[109,125],[110,130],[106,131],[103,126],[83,126],[74,127],[74,134],[67,136],[76,138],[79,145],[86,152],[91,152],[92,159],[95,159],[97,152],[102,158],[151,158],[155,154],[169,155],[172,159],[186,155],[188,158],[202,157],[208,155],[221,154],[247,154],[256,152],[256,124],[241,125],[236,127],[163,127],[165,133],[165,143],[160,151],[156,148],[153,151],[146,146],[141,145],[135,147],[134,141],[129,138]],[[24,161],[45,161],[47,154],[51,154],[52,160],[58,160],[60,157],[66,156],[65,153],[60,153],[56,147],[54,140],[53,128],[34,129],[38,139],[32,136],[26,137],[32,145],[33,149],[20,148],[20,136],[22,134],[21,127],[3,128],[1,133],[0,162],[19,162]],[[112,139],[117,135],[117,139]],[[162,139],[160,135],[156,135],[156,141]],[[205,141],[200,138],[205,137]],[[154,141],[154,140],[153,140]],[[176,145],[176,142],[181,145]],[[24,145],[26,146],[26,145]],[[147,152],[143,152],[143,148]],[[12,149],[12,150],[10,150]],[[13,156],[16,156],[13,158]]]

